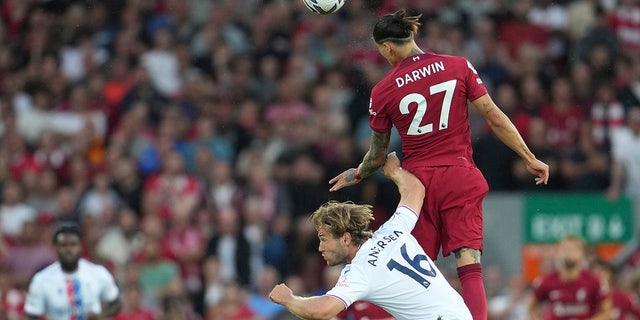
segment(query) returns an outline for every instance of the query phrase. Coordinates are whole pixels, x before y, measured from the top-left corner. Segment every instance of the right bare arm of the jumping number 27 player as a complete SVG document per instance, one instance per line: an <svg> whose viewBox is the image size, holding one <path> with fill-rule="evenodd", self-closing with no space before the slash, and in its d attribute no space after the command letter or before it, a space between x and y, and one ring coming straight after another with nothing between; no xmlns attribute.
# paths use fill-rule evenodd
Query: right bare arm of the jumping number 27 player
<svg viewBox="0 0 640 320"><path fill-rule="evenodd" d="M527 164L527 170L536 176L536 184L547 184L549 181L549 166L536 159L536 156L529 150L527 144L522 139L518 129L513 125L509 117L498 108L489 94L473 101L473 105L480 111L487 120L489 126L496 136L511 150L522 158Z"/></svg>

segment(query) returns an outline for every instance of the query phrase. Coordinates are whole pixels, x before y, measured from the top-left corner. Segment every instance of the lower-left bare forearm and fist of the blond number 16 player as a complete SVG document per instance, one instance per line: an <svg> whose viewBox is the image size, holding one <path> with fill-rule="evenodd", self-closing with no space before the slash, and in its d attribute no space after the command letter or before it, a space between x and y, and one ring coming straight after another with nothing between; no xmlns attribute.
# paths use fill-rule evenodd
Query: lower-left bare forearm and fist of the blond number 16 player
<svg viewBox="0 0 640 320"><path fill-rule="evenodd" d="M285 284L276 285L269 293L269 299L303 319L331 319L344 309L344 304L336 298L296 296Z"/></svg>

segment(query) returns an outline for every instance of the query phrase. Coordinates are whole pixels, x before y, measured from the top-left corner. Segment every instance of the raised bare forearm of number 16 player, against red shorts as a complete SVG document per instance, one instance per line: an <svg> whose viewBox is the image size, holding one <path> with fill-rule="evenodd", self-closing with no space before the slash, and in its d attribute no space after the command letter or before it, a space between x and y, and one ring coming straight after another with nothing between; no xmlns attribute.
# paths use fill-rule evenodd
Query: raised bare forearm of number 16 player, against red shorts
<svg viewBox="0 0 640 320"><path fill-rule="evenodd" d="M415 212L420 212L424 201L424 185L411 172L402 169L400 159L395 152L387 155L387 162L385 162L382 172L398 186L400 192L398 206L405 205Z"/></svg>

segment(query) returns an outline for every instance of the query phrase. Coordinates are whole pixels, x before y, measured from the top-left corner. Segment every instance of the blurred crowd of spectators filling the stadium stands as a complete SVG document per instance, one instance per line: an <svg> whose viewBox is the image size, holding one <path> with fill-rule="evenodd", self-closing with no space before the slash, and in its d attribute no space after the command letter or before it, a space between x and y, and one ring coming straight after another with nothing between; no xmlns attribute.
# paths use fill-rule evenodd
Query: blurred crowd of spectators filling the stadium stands
<svg viewBox="0 0 640 320"><path fill-rule="evenodd" d="M397 200L379 177L328 180L366 152L390 68L371 27L400 7L423 14L421 47L474 64L551 166L545 190L640 197L637 0L348 0L329 16L300 0L0 0L0 319L22 313L69 221L122 288L117 319L276 319L274 284L321 292L308 215L367 202L375 228ZM533 188L470 112L491 189ZM506 280L490 300L526 293Z"/></svg>

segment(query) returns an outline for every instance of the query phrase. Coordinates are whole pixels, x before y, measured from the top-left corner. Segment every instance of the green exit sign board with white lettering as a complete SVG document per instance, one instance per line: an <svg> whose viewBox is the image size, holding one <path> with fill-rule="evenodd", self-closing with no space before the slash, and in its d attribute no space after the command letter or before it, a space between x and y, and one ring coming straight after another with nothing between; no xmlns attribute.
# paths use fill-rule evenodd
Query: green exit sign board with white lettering
<svg viewBox="0 0 640 320"><path fill-rule="evenodd" d="M527 243L556 242L573 234L590 243L620 243L633 234L633 206L628 198L609 201L602 194L533 194L525 197Z"/></svg>

